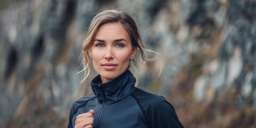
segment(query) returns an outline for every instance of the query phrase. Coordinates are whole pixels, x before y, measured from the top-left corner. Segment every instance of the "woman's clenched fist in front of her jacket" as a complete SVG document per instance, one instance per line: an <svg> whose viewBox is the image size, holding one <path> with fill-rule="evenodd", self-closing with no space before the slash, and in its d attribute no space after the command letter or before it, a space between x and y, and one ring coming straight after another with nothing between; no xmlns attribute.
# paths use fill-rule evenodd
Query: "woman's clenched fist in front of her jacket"
<svg viewBox="0 0 256 128"><path fill-rule="evenodd" d="M76 117L76 128L92 128L93 127L94 111L90 110L88 113L80 114Z"/></svg>

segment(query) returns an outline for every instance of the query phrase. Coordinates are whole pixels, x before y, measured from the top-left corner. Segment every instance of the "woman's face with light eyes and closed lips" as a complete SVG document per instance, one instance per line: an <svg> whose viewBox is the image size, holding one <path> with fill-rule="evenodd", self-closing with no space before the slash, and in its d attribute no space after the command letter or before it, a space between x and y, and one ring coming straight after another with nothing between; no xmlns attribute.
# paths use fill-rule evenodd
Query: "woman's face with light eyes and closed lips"
<svg viewBox="0 0 256 128"><path fill-rule="evenodd" d="M136 51L122 23L114 22L98 29L90 53L94 69L106 83L124 73Z"/></svg>

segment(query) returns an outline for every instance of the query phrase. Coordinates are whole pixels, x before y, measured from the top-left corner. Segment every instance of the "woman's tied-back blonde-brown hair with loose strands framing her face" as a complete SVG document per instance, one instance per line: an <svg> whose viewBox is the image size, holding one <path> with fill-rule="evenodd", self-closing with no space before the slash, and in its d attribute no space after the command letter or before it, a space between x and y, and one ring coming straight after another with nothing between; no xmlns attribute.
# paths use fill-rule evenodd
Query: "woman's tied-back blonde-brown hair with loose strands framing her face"
<svg viewBox="0 0 256 128"><path fill-rule="evenodd" d="M94 42L95 36L97 34L98 29L102 26L105 25L106 23L111 23L111 22L120 22L122 25L125 27L127 32L130 35L131 42L132 42L132 47L137 48L140 50L141 53L141 58L143 61L145 61L145 53L143 51L144 45L141 41L141 37L139 35L139 31L137 29L135 21L130 17L129 14L117 10L105 10L100 13L98 13L91 21L91 24L89 26L89 30L87 31L87 38L83 42L83 67L84 67L84 79L83 81L87 78L87 76L90 74L90 49L91 46ZM137 63L135 60L132 60L134 65L137 67ZM129 65L130 67L130 65ZM82 71L83 71L82 70ZM138 78L137 76L132 73L133 76L136 79L135 86L138 85ZM82 82L83 82L82 81Z"/></svg>

